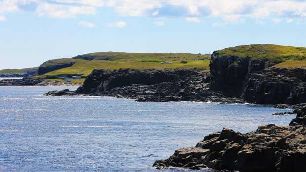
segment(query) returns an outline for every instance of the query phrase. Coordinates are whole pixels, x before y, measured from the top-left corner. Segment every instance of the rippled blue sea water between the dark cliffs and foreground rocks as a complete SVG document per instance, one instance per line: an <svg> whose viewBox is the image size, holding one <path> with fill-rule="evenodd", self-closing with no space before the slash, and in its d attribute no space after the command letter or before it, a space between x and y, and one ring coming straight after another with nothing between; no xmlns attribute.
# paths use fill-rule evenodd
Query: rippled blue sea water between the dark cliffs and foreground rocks
<svg viewBox="0 0 306 172"><path fill-rule="evenodd" d="M251 104L42 96L65 88L76 89L0 87L0 172L160 172L155 160L223 127L245 133L294 118Z"/></svg>

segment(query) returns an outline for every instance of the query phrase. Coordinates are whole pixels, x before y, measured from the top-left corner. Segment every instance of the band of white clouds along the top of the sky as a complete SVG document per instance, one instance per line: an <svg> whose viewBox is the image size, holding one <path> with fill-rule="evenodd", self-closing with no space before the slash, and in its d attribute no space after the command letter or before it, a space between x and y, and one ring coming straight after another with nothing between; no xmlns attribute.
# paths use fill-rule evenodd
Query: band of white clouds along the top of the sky
<svg viewBox="0 0 306 172"><path fill-rule="evenodd" d="M100 7L123 16L214 17L223 23L306 18L306 0L0 0L0 15L33 8L41 16L71 18L94 15Z"/></svg>

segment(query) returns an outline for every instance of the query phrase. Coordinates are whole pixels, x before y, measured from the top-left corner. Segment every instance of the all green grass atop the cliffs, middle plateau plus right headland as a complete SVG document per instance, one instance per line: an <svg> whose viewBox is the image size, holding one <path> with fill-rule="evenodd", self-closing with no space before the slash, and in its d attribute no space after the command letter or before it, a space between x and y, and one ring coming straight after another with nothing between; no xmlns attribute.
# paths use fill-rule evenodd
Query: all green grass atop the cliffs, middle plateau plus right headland
<svg viewBox="0 0 306 172"><path fill-rule="evenodd" d="M265 60L278 68L306 67L306 48L273 44L252 44L230 47L215 51L217 57L236 56ZM166 62L166 63L161 63ZM171 62L171 63L167 63ZM122 53L98 52L79 55L70 59L55 59L43 63L40 67L50 71L37 78L60 80L72 75L85 78L93 69L174 69L196 68L209 71L210 54L190 53ZM68 65L69 64L69 65ZM67 65L68 67L63 67ZM60 68L56 68L62 66ZM82 82L83 80L77 80Z"/></svg>

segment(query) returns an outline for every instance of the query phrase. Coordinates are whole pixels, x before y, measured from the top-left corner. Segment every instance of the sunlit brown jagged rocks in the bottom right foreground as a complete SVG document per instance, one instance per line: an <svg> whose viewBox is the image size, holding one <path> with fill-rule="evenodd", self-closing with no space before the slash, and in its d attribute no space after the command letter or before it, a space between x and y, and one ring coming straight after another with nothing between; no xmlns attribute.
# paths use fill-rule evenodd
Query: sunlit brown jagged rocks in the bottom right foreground
<svg viewBox="0 0 306 172"><path fill-rule="evenodd" d="M195 147L176 150L153 167L211 168L240 172L306 172L306 106L290 126L269 124L241 134L224 128Z"/></svg>

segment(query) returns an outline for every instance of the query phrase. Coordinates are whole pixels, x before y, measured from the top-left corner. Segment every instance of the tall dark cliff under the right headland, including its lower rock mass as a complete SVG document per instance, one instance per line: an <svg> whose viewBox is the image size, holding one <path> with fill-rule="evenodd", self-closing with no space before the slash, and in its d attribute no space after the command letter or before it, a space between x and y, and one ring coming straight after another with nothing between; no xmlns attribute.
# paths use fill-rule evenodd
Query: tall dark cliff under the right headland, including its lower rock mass
<svg viewBox="0 0 306 172"><path fill-rule="evenodd" d="M210 89L248 103L306 103L306 69L269 68L267 59L237 56L211 57Z"/></svg>

